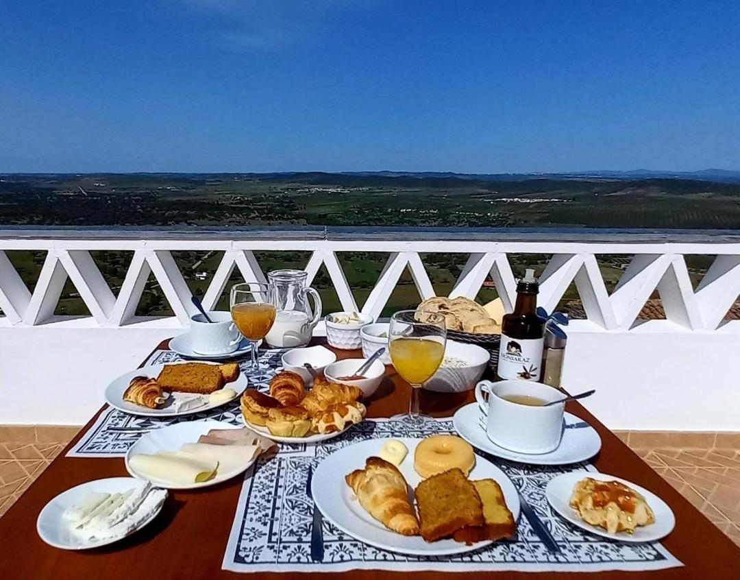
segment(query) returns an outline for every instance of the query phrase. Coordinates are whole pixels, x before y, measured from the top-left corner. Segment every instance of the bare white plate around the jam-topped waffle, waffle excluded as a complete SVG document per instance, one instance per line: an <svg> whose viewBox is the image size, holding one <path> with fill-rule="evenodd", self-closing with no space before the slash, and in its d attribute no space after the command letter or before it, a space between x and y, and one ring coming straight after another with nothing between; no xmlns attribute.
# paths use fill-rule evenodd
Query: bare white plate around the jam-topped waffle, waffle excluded
<svg viewBox="0 0 740 580"><path fill-rule="evenodd" d="M602 527L587 524L580 518L578 513L576 513L576 510L573 510L570 504L573 486L585 477L592 477L598 481L619 481L619 483L628 485L633 490L642 493L642 495L645 496L647 505L650 506L655 514L655 523L647 526L640 526L633 534L628 534L626 532L608 533L608 531ZM666 504L665 501L660 499L653 492L646 490L645 487L633 484L631 481L622 479L621 477L608 476L606 473L596 473L592 471L571 471L571 473L563 473L555 479L550 480L548 487L545 488L545 496L553 509L563 518L570 521L571 524L576 525L587 532L595 533L597 536L604 536L605 538L613 540L628 541L635 544L643 541L656 541L661 538L665 538L665 536L667 536L676 525L676 518L673 516L673 511L668 507L668 504Z"/></svg>

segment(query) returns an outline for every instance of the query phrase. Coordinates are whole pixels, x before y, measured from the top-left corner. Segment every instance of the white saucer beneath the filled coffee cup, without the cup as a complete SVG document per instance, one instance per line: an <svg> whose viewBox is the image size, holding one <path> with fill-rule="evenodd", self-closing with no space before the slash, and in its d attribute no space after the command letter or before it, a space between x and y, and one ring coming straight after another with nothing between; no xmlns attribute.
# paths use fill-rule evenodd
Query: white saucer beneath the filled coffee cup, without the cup
<svg viewBox="0 0 740 580"><path fill-rule="evenodd" d="M580 417L565 413L565 429L562 439L556 450L550 453L531 455L529 453L517 453L499 447L485 434L485 430L479 424L480 409L477 403L471 403L460 407L452 417L452 422L460 437L468 441L473 447L491 453L491 455L517 461L530 465L568 465L591 459L601 449L601 437L591 425L572 428L568 425L582 425L585 421Z"/></svg>

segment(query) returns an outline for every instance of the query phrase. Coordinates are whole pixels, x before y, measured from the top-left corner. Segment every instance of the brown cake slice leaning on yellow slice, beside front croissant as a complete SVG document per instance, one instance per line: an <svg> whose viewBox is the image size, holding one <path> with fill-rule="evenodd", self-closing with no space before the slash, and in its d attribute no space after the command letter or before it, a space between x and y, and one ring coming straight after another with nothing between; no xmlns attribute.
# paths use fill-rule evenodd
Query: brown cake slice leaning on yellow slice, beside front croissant
<svg viewBox="0 0 740 580"><path fill-rule="evenodd" d="M455 467L422 481L415 490L420 532L426 541L451 536L463 526L482 526L480 496Z"/></svg>

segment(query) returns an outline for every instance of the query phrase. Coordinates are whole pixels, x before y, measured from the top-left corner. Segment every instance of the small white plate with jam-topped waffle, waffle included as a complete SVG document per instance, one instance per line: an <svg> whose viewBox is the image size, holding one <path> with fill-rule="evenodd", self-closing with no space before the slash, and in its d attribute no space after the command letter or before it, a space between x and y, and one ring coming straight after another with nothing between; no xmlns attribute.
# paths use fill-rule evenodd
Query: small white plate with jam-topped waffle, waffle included
<svg viewBox="0 0 740 580"><path fill-rule="evenodd" d="M617 541L656 541L676 525L665 501L645 487L606 473L563 473L551 479L545 496L571 524Z"/></svg>

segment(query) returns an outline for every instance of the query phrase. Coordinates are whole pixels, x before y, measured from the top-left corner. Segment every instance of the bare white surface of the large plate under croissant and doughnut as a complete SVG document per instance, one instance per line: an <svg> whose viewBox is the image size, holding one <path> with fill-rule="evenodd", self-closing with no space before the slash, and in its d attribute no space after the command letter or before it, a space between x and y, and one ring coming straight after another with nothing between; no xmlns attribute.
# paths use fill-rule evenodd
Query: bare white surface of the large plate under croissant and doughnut
<svg viewBox="0 0 740 580"><path fill-rule="evenodd" d="M384 439L360 441L349 447L343 447L321 461L312 480L311 491L316 507L323 516L336 527L350 536L364 541L371 546L413 556L449 556L478 550L491 544L491 540L479 541L471 546L453 539L442 539L434 542L425 541L421 536L402 536L391 532L380 521L377 521L360 505L344 476L356 469L365 467L369 456L377 455L383 447ZM406 478L406 483L415 488L421 476L414 470L414 450L421 439L400 439L408 447L408 455L399 470ZM514 521L519 519L519 496L517 489L502 470L482 457L476 456L475 467L471 470L470 479L493 478L498 481Z"/></svg>

